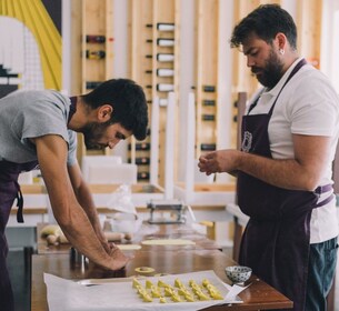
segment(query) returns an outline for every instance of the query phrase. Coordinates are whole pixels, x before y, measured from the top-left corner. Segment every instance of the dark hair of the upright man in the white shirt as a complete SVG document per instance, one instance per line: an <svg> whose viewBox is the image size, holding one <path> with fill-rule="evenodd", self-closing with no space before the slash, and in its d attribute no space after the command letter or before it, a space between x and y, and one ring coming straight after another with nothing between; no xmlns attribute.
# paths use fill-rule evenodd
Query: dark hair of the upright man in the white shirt
<svg viewBox="0 0 339 311"><path fill-rule="evenodd" d="M285 33L291 48L297 49L297 27L292 17L279 4L262 4L235 27L230 46L239 48L251 34L271 43L278 32Z"/></svg>

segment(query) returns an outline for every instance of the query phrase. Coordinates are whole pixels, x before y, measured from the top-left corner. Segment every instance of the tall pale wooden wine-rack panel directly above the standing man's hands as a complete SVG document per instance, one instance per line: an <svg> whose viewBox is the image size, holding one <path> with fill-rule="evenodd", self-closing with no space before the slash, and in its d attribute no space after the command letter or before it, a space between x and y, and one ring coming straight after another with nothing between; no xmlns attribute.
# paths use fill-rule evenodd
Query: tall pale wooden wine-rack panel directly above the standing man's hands
<svg viewBox="0 0 339 311"><path fill-rule="evenodd" d="M196 158L198 159L202 144L217 148L219 0L197 1L196 13ZM207 119L205 116L209 116L209 119L213 118L213 120L205 120Z"/></svg>

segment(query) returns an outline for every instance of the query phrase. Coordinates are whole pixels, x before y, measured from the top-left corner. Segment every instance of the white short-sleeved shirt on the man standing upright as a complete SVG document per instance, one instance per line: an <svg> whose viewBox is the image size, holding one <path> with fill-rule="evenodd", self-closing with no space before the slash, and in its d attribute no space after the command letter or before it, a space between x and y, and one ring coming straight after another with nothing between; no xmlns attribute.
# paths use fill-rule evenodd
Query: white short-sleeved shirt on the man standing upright
<svg viewBox="0 0 339 311"><path fill-rule="evenodd" d="M258 104L250 114L268 113L281 87L299 61L300 59L288 69L273 89L261 93ZM329 162L319 185L333 183L331 177L332 160L339 138L339 97L319 70L306 64L286 84L276 103L268 133L273 159L295 158L292 134L330 137ZM332 192L321 194L319 201L331 194ZM320 243L338 235L335 199L312 210L310 230L311 243Z"/></svg>

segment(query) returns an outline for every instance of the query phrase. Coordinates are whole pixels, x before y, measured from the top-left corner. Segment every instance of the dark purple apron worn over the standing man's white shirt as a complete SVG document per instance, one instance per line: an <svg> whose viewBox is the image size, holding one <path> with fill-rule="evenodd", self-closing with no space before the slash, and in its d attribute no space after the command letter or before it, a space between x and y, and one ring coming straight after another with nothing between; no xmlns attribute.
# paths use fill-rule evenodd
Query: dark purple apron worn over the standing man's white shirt
<svg viewBox="0 0 339 311"><path fill-rule="evenodd" d="M296 66L283 87L305 63L301 60ZM243 117L242 150L272 158L268 124L280 92L268 114ZM311 212L333 199L330 197L317 204L320 194L331 189L329 184L316 191L286 190L238 173L238 204L250 217L242 235L239 263L252 268L256 275L292 300L293 310L305 310Z"/></svg>

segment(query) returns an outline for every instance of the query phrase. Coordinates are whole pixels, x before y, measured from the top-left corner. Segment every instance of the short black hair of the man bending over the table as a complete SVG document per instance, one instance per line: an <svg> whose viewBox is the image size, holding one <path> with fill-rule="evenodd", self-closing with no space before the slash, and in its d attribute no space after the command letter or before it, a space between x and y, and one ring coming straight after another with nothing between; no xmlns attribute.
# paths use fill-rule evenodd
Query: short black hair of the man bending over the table
<svg viewBox="0 0 339 311"><path fill-rule="evenodd" d="M136 139L143 140L148 133L148 106L140 86L129 79L111 79L82 96L91 109L110 104L113 113L109 123L120 123Z"/></svg>

